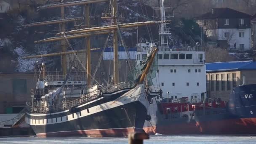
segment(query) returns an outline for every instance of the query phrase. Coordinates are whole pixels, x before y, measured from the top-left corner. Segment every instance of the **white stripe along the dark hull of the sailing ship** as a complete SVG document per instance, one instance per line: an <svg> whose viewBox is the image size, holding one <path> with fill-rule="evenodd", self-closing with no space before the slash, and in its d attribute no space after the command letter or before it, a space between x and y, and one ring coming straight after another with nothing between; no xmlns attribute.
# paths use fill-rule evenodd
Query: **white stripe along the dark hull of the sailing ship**
<svg viewBox="0 0 256 144"><path fill-rule="evenodd" d="M120 96L119 98L115 99L114 101L109 101L106 102L104 104L100 104L88 109L84 109L81 110L80 112L76 112L64 117L57 117L56 118L49 118L48 119L48 123L47 123L47 119L29 119L26 117L26 122L29 125L48 125L48 124L56 124L56 123L64 123L70 120L75 120L75 119L79 119L81 117L86 117L88 115L92 115L98 112L102 112L104 110L107 109L112 109L115 107L119 107L128 103L132 103L135 101L141 101L142 104L145 103L146 99L146 95L144 92L141 93L141 90L143 85L138 85L136 88L133 88L132 90L128 91L127 93L123 94L122 96ZM140 99L139 99L140 98ZM145 105L145 104L144 104ZM146 107L146 106L145 106ZM147 107L146 107L147 108ZM69 111L69 110L66 110ZM65 112L65 111L64 111ZM61 113L61 112L60 112ZM31 116L46 116L46 115L50 115L50 114L29 114L28 115ZM81 115L80 115L81 114ZM51 114L53 115L53 114Z"/></svg>

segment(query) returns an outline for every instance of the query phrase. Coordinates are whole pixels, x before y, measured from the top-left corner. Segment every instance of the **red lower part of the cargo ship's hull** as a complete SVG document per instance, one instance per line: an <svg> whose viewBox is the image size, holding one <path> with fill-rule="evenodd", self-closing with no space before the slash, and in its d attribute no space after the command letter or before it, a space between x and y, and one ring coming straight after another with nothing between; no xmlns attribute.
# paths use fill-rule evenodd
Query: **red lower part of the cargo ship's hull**
<svg viewBox="0 0 256 144"><path fill-rule="evenodd" d="M154 134L256 134L256 118L241 118L195 123L173 123L157 127L143 128L146 133Z"/></svg>

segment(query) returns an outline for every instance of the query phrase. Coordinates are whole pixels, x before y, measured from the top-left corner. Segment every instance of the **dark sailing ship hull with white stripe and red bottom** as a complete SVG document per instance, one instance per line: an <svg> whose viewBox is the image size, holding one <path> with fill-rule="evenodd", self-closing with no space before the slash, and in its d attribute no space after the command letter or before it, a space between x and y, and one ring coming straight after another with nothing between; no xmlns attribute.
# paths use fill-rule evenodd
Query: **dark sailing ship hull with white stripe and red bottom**
<svg viewBox="0 0 256 144"><path fill-rule="evenodd" d="M128 94L136 91L133 89ZM147 108L139 99L145 99L145 95L136 95L136 99L131 99L125 94L113 96L112 99L103 96L77 106L76 112L70 110L48 114L27 112L26 122L40 137L128 136L131 132L144 131L142 128Z"/></svg>

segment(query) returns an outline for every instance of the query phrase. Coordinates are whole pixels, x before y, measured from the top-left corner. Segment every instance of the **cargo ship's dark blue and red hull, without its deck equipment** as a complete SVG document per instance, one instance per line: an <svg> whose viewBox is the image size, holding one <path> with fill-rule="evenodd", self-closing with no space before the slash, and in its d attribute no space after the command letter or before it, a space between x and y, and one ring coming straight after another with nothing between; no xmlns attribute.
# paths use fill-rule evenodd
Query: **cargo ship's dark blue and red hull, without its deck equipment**
<svg viewBox="0 0 256 144"><path fill-rule="evenodd" d="M149 108L152 125L145 123L144 130L147 133L256 134L256 85L234 88L224 108L195 109L169 114L161 114L159 107L155 108L158 110Z"/></svg>

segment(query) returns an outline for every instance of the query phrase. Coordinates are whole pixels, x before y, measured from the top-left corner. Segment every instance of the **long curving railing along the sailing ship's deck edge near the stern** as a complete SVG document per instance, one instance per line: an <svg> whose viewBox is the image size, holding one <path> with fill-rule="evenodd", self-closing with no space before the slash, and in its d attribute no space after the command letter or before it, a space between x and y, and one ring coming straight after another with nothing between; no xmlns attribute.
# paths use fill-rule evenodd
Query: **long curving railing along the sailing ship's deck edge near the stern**
<svg viewBox="0 0 256 144"><path fill-rule="evenodd" d="M99 91L99 90L98 90ZM100 92L100 91L99 91ZM76 107L80 104L85 104L89 101L99 98L99 93L88 94L75 99L74 101L64 102L62 104L49 105L46 104L44 107L32 107L31 104L27 103L27 111L32 113L48 113L48 112L58 112L60 110L70 109L71 107Z"/></svg>

